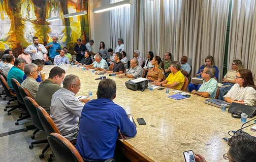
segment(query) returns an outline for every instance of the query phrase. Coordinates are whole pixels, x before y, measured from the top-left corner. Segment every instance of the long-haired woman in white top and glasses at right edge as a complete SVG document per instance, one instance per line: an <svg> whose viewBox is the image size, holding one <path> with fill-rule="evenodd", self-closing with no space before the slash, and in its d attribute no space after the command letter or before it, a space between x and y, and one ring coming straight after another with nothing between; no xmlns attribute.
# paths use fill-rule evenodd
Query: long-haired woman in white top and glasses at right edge
<svg viewBox="0 0 256 162"><path fill-rule="evenodd" d="M249 69L240 69L236 73L236 84L229 90L224 100L237 102L249 106L256 104L256 87L254 86L252 73Z"/></svg>

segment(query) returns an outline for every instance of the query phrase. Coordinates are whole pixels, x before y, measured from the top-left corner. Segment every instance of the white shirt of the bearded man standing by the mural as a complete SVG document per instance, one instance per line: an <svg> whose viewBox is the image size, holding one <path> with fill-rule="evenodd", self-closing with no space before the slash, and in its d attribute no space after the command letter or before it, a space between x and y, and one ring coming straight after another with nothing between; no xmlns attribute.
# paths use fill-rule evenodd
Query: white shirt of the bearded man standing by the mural
<svg viewBox="0 0 256 162"><path fill-rule="evenodd" d="M40 47L42 50L41 51L38 50L38 47ZM47 54L48 51L46 50L44 45L38 44L38 47L36 45L34 45L34 44L29 45L25 49L24 53L30 54L31 60L36 60L36 59L43 60L44 59L44 54ZM32 53L33 50L36 50L36 52Z"/></svg>

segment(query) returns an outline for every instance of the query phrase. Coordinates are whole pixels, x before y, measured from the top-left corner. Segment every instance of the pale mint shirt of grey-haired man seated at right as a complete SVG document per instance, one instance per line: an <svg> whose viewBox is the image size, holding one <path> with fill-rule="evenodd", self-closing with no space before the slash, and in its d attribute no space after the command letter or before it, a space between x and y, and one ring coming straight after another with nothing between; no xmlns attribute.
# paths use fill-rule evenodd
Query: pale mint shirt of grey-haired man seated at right
<svg viewBox="0 0 256 162"><path fill-rule="evenodd" d="M208 82L205 82L205 80L203 80L203 84L199 88L198 92L208 92L210 94L209 97L215 98L217 88L218 82L214 78L211 78L210 80L208 80Z"/></svg>

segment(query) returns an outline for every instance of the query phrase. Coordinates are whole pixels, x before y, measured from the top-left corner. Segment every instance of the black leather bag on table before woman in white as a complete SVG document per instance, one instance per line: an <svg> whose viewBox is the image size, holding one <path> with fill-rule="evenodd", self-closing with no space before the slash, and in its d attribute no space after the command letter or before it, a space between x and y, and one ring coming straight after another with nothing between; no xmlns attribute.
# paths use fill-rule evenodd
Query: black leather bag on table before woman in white
<svg viewBox="0 0 256 162"><path fill-rule="evenodd" d="M246 113L248 117L253 117L256 113L256 107L232 102L228 110L232 117L241 118L241 113Z"/></svg>

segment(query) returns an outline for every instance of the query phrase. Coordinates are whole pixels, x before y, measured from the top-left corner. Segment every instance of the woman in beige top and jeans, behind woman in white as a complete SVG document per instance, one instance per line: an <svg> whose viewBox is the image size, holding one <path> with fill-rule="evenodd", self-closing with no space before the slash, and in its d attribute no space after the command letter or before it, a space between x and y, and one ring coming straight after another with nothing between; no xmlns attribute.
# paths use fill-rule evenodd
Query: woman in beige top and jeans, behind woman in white
<svg viewBox="0 0 256 162"><path fill-rule="evenodd" d="M243 64L240 60L233 60L231 64L231 70L227 72L227 74L222 79L222 84L224 86L230 85L226 88L220 88L219 89L219 100L224 100L223 96L234 86L236 83L235 77L238 70L243 68Z"/></svg>

